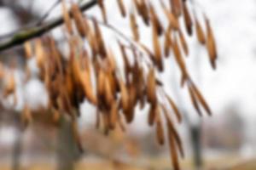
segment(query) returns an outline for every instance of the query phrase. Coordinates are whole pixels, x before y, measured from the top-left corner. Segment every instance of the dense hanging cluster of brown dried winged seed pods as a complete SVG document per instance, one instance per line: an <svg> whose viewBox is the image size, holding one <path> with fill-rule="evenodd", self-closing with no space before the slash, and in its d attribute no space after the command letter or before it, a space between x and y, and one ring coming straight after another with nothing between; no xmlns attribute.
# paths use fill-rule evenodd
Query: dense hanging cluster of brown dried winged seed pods
<svg viewBox="0 0 256 170"><path fill-rule="evenodd" d="M207 48L212 68L216 67L217 52L210 22L206 16L204 23L199 22L189 8L189 0L157 1L160 10L148 0L132 0L132 10L124 0L116 0L120 16L129 18L132 37L126 37L118 26L108 24L105 6L108 1L97 2L102 12L102 22L84 15L76 3L71 3L69 13L67 4L62 1L63 32L68 43L68 54L61 53L61 48L50 34L25 44L27 59L36 59L40 79L49 94L48 107L53 119L58 121L61 114L69 115L73 120L74 138L80 145L76 120L79 105L84 99L95 105L96 127L103 128L106 134L116 127L125 131L125 124L134 120L136 106L143 109L149 105L148 126L154 126L159 144L170 146L172 165L177 170L178 158L183 156L183 146L175 122L182 122L182 116L157 75L165 69L164 59L173 57L182 75L181 84L188 88L195 110L199 115L203 113L201 109L211 115L206 100L189 77L184 58L189 55L186 37L195 34L198 42ZM165 15L167 27L163 26L159 12ZM152 31L152 49L140 41L142 35L138 20L143 20L144 25ZM185 26L183 30L181 22ZM201 24L205 25L206 31ZM119 36L120 56L116 56L104 40L102 27ZM163 43L160 38L164 39ZM124 68L119 69L117 58L123 60ZM4 94L14 91L15 81L11 76ZM176 117L175 120L171 114ZM31 119L28 107L25 107L23 117L25 121Z"/></svg>

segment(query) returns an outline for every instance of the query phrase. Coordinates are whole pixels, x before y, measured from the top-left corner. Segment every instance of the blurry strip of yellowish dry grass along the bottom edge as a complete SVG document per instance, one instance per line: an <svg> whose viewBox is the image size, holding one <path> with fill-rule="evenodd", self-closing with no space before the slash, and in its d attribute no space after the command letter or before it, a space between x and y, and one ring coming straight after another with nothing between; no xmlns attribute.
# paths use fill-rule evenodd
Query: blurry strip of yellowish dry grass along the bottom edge
<svg viewBox="0 0 256 170"><path fill-rule="evenodd" d="M0 166L1 170L10 170L8 166ZM193 169L193 163L191 160L181 161L181 167L183 170ZM21 170L54 170L53 164L37 163L31 164L26 167L22 167ZM147 158L143 163L133 162L118 163L113 161L81 161L76 165L76 170L167 170L172 169L170 161L167 158ZM203 170L255 170L256 160L241 161L240 158L235 156L225 156L221 158L207 160Z"/></svg>

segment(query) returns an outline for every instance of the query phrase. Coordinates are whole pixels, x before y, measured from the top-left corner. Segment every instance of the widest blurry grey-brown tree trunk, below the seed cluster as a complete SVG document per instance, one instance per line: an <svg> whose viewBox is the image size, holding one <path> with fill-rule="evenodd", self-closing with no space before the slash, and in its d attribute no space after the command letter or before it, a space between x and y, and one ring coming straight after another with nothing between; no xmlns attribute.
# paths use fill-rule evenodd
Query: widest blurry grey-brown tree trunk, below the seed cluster
<svg viewBox="0 0 256 170"><path fill-rule="evenodd" d="M62 116L57 136L57 170L73 170L79 148L73 138L72 122Z"/></svg>

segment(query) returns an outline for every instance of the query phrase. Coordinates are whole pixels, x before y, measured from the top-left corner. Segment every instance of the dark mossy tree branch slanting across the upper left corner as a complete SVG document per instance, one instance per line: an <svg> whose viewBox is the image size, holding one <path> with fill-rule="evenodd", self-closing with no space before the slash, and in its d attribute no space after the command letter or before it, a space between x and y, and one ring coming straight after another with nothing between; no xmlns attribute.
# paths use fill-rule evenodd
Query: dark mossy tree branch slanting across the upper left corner
<svg viewBox="0 0 256 170"><path fill-rule="evenodd" d="M81 11L85 11L94 7L96 4L97 4L97 0L90 0L88 3L84 3L83 5L81 5L80 9ZM24 31L18 31L8 40L0 43L0 52L9 48L13 48L17 45L20 45L23 42L26 42L27 40L30 40L34 37L40 37L44 35L44 33L54 29L55 27L61 26L63 22L64 20L61 16L58 19L49 21L44 26L36 26L36 27L28 28L27 30L24 30Z"/></svg>

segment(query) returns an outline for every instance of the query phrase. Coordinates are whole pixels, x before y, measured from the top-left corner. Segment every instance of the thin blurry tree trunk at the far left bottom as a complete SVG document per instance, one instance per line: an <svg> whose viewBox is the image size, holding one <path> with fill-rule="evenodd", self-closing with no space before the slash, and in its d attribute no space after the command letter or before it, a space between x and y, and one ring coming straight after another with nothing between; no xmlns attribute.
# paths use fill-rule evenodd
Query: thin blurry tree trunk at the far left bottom
<svg viewBox="0 0 256 170"><path fill-rule="evenodd" d="M20 129L19 129L17 132L14 147L13 147L12 170L20 169L21 148L22 148L22 134L20 133Z"/></svg>

